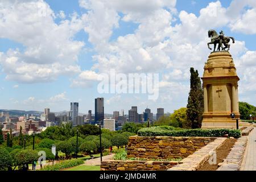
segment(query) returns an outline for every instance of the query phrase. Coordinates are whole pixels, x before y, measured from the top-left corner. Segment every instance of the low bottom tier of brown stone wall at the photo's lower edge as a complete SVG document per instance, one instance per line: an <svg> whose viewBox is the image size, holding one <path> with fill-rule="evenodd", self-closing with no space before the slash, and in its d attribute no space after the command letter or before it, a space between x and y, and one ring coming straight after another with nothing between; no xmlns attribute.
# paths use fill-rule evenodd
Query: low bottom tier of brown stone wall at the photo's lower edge
<svg viewBox="0 0 256 182"><path fill-rule="evenodd" d="M146 160L106 160L101 163L101 171L166 171L180 164L177 161Z"/></svg>

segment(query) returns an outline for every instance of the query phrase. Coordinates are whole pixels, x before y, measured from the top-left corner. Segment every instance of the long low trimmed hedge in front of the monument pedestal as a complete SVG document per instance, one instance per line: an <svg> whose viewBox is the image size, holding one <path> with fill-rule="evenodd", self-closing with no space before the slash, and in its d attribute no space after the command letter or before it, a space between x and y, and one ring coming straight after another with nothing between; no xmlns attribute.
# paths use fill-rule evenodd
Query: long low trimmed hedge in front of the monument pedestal
<svg viewBox="0 0 256 182"><path fill-rule="evenodd" d="M234 129L188 129L188 130L166 130L159 127L143 128L138 131L141 137L223 137L228 134L229 137L240 138L241 130Z"/></svg>

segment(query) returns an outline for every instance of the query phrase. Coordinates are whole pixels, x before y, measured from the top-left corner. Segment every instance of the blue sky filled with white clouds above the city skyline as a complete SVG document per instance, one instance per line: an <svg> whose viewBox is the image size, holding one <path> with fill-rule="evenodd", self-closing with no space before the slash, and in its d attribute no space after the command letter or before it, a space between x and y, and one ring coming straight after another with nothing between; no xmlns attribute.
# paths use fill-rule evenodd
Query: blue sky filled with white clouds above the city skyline
<svg viewBox="0 0 256 182"><path fill-rule="evenodd" d="M233 36L240 101L256 105L254 0L2 0L0 2L0 109L105 112L138 106L165 111L187 105L189 68L203 74L207 32ZM97 76L159 73L159 98L100 94Z"/></svg>

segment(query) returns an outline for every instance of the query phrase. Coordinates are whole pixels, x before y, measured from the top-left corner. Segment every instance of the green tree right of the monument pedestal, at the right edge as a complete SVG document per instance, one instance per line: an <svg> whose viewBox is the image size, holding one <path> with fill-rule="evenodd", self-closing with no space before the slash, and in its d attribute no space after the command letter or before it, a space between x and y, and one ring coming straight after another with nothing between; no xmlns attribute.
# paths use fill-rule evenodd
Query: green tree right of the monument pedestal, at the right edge
<svg viewBox="0 0 256 182"><path fill-rule="evenodd" d="M239 102L240 119L250 119L250 114L256 116L256 107L247 102Z"/></svg>

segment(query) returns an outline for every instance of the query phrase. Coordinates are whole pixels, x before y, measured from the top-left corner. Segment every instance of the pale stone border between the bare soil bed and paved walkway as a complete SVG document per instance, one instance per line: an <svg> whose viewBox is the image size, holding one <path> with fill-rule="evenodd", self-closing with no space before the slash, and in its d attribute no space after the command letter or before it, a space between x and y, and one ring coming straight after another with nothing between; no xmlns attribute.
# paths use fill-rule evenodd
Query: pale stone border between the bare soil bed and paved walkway
<svg viewBox="0 0 256 182"><path fill-rule="evenodd" d="M229 155L226 157L226 159L224 159L224 162L218 164L220 167L217 169L217 171L238 171L241 167L246 144L247 136L238 138L237 142L229 152Z"/></svg>

